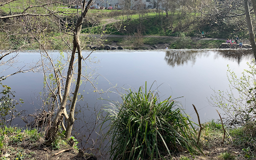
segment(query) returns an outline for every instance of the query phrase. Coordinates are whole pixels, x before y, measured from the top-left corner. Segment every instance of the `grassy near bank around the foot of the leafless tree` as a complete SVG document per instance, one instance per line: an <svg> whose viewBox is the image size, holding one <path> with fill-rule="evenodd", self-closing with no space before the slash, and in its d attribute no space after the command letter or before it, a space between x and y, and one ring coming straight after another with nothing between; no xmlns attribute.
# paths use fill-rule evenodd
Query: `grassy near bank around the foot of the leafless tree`
<svg viewBox="0 0 256 160"><path fill-rule="evenodd" d="M59 136L50 146L46 145L44 132L36 129L20 129L19 127L3 127L0 129L1 160L14 159L87 159L93 155L78 152L75 145ZM62 151L62 152L61 152ZM79 154L78 154L79 153ZM82 156L82 154L83 156Z"/></svg>

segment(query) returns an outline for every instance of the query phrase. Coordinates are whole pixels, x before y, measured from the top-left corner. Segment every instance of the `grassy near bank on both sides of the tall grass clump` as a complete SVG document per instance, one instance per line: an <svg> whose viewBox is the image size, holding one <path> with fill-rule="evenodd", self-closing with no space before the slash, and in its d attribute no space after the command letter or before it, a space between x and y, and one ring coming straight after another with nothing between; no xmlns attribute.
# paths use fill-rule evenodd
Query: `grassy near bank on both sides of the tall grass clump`
<svg viewBox="0 0 256 160"><path fill-rule="evenodd" d="M210 121L203 124L200 142L203 154L190 155L188 151L172 152L166 159L254 159L256 157L255 123L237 129L227 129L223 140L222 125ZM19 127L4 127L0 129L1 159L76 159L78 150L71 150L55 155L63 149L70 149L67 140L58 138L51 146L44 145L44 133L36 129L22 130ZM167 153L166 153L167 155ZM85 157L90 157L86 155ZM86 158L85 158L86 159Z"/></svg>

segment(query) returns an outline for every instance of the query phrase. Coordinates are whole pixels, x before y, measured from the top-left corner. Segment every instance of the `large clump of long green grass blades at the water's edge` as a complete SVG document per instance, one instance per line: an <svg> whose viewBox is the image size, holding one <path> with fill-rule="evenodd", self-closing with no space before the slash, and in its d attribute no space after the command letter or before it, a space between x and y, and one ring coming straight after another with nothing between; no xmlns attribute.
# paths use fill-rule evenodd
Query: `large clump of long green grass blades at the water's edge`
<svg viewBox="0 0 256 160"><path fill-rule="evenodd" d="M201 151L196 131L177 101L159 101L157 92L127 91L122 103L106 106L113 159L153 159L175 151Z"/></svg>

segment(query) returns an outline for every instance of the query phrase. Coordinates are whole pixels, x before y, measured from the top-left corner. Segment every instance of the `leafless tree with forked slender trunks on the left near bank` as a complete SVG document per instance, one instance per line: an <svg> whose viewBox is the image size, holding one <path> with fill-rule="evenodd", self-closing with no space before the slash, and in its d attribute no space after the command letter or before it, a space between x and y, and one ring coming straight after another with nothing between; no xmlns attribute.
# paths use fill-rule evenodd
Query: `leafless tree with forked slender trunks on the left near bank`
<svg viewBox="0 0 256 160"><path fill-rule="evenodd" d="M11 0L11 1L3 2L0 4L0 7L6 7L6 5L9 5L9 6L13 5L13 7L15 7L17 10L19 10L18 12L15 12L13 14L13 13L11 13L12 7L9 7L9 9L10 9L9 15L2 14L0 16L0 20L15 19L17 22L20 22L20 23L23 21L26 21L25 29L27 29L29 31L30 37L33 38L34 41L38 42L38 44L40 45L39 48L41 49L40 52L44 52L47 60L50 61L50 64L54 68L53 73L54 73L55 80L57 82L57 92L50 89L50 87L49 87L49 89L52 92L53 97L55 97L55 98L58 97L59 101L57 100L57 103L60 102L60 105L59 105L57 114L55 115L55 118L50 126L50 129L48 130L48 132L46 134L46 140L49 143L51 143L55 139L55 135L58 131L58 126L60 124L62 124L63 129L66 130L66 138L69 139L70 135L71 135L71 131L73 129L74 121L75 121L74 112L75 112L75 106L76 106L76 101L77 101L77 95L78 95L78 91L79 91L79 83L81 82L81 76L82 76L82 60L85 60L90 55L89 54L86 58L83 58L83 56L82 56L83 46L81 45L81 40L79 38L79 35L81 33L82 24L86 17L89 6L92 3L92 0L90 0L88 2L74 0L72 2L68 1L69 4L65 4L65 5L73 5L73 4L78 4L78 3L82 4L81 9L77 9L77 12L75 13L77 20L76 20L75 25L73 25L73 26L71 24L68 24L68 22L65 19L62 19L62 17L61 17L63 14L69 14L69 13L66 13L65 11L58 11L58 9L54 6L57 4L62 5L62 4L64 4L63 2L33 1L33 3L31 3L31 4L23 4L22 6L17 6L17 3L15 4L15 1L17 1L17 0ZM63 81L61 79L61 77L63 77L63 75L61 75L61 73L60 73L60 67L54 66L53 60L50 58L49 55L47 55L47 51L45 49L45 44L47 42L44 39L44 34L45 34L45 30L50 29L50 26L47 26L50 23L47 23L47 25L42 26L44 23L43 22L44 20L42 20L42 19L36 20L37 17L45 18L48 21L51 21L54 24L54 26L57 26L57 29L59 29L59 31L61 33L66 34L66 35L73 35L73 46L69 46L67 43L67 45L70 47L70 50L71 50L71 57L68 61L69 67L67 70L67 76L65 77L66 78L65 85L63 85ZM41 23L41 25L38 25L37 23ZM27 26L29 26L29 27L27 27ZM26 42L24 42L24 44L26 44ZM12 52L13 51L3 53L0 57L1 58L0 60L5 58L7 55L11 54ZM77 55L76 55L76 53L77 53ZM15 55L14 55L14 57L15 57ZM76 57L78 59L76 59ZM43 58L42 58L42 60L43 60ZM76 75L76 87L75 87L75 91L74 91L74 94L73 94L73 97L71 100L72 103L71 103L70 111L68 114L66 107L67 107L67 101L70 98L70 96L69 96L70 87L71 87L71 82L73 81L74 74L75 74L74 66L75 66L76 61L78 63L78 66L77 66L78 73ZM42 61L41 65L44 66L43 61ZM43 69L44 69L44 67L43 67ZM61 91L62 89L65 91L62 92ZM65 125L63 125L63 121L62 121L63 116L65 116L65 118L67 120L67 128L65 127Z"/></svg>

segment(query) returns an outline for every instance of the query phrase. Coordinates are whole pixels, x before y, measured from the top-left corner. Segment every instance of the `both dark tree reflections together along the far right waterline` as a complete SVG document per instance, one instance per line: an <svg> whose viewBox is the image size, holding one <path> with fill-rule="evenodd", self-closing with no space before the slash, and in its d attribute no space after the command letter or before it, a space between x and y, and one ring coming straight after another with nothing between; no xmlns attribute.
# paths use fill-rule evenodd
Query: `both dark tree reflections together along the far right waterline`
<svg viewBox="0 0 256 160"><path fill-rule="evenodd" d="M219 57L228 59L230 61L237 61L238 65L242 59L253 59L252 50L216 50L216 51L166 51L164 60L169 66L182 66L191 62L195 64L197 58L209 57L211 53L214 54L214 59Z"/></svg>

